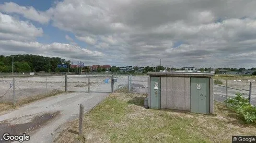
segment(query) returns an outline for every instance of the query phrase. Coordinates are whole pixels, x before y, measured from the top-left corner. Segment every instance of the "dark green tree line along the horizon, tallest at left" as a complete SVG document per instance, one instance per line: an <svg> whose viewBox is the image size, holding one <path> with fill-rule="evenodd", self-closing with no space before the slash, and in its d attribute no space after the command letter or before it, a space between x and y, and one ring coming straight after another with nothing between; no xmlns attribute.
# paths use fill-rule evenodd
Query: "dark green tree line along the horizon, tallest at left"
<svg viewBox="0 0 256 143"><path fill-rule="evenodd" d="M24 54L24 55L10 55L10 56L4 56L0 55L0 72L12 72L12 56L13 56L13 72L77 72L77 68L70 68L70 65L73 64L71 61L66 61L65 59L61 59L58 57L44 57L44 56L38 56L38 55L32 55L32 54ZM66 64L68 65L68 68L58 68L58 64ZM134 71L139 71L140 69L135 66ZM219 70L224 69L227 71L233 71L233 72L243 72L246 71L245 68L218 68L216 69L216 72ZM85 66L82 68L84 72L90 72L90 67ZM179 71L179 70L185 70L184 68L177 69L177 68L164 68L163 66L156 66L156 67L150 67L146 66L142 71L140 72L159 72L161 70L167 70L167 71ZM251 68L247 70L253 70L256 71L256 68ZM98 66L97 72L105 72L105 68L101 68ZM110 72L117 72L120 71L119 67L111 67L109 69ZM132 71L132 72L134 72ZM210 68L200 68L199 71L208 71L211 72L213 69Z"/></svg>

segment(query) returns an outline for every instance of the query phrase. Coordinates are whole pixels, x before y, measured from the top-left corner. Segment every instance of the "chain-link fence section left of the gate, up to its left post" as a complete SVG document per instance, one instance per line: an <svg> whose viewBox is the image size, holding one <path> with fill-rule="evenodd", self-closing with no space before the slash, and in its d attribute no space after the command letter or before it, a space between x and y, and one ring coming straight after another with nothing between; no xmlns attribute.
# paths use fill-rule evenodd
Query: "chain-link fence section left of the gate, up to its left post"
<svg viewBox="0 0 256 143"><path fill-rule="evenodd" d="M0 78L0 102L20 102L65 91L65 76Z"/></svg>

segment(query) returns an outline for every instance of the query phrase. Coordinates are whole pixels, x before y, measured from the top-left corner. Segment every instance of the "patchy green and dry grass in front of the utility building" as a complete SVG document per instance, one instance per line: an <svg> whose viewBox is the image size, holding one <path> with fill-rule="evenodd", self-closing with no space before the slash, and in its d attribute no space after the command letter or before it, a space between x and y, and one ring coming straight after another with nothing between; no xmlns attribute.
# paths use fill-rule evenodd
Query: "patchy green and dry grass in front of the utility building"
<svg viewBox="0 0 256 143"><path fill-rule="evenodd" d="M56 142L80 139L86 143L230 143L232 135L256 135L256 126L244 125L231 117L233 112L222 103L215 103L216 114L202 115L144 109L144 97L126 92L111 94L85 114L82 140L76 133L64 131ZM78 131L78 120L68 130Z"/></svg>

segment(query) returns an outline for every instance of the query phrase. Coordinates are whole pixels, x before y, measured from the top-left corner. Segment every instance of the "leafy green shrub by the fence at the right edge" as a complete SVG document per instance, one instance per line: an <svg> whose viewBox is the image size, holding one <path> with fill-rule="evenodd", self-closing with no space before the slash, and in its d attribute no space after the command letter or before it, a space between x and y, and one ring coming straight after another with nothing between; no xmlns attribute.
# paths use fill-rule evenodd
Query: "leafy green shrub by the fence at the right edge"
<svg viewBox="0 0 256 143"><path fill-rule="evenodd" d="M237 92L236 97L225 102L245 123L256 123L256 107L251 105L243 94Z"/></svg>

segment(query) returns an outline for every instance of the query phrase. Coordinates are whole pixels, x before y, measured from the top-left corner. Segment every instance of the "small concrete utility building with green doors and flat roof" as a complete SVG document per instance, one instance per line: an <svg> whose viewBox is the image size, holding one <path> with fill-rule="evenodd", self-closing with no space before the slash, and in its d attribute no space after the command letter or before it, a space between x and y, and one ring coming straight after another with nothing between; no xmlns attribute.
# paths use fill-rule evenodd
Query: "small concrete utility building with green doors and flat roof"
<svg viewBox="0 0 256 143"><path fill-rule="evenodd" d="M213 73L148 72L148 107L213 113Z"/></svg>

